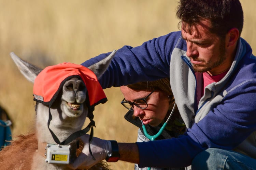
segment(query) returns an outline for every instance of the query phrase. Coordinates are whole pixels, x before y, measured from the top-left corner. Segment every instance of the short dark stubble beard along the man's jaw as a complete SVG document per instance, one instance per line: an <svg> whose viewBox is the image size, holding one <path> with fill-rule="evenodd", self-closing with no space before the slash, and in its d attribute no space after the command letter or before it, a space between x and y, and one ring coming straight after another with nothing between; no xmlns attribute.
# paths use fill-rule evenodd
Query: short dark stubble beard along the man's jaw
<svg viewBox="0 0 256 170"><path fill-rule="evenodd" d="M210 71L211 69L221 65L225 60L226 60L227 56L226 56L226 49L225 49L225 39L223 38L221 40L221 43L219 45L219 56L218 56L218 60L215 63L212 63L209 65L208 63L205 63L206 66L202 67L202 66L198 66L196 64L192 64L194 71L196 72L207 72ZM193 59L193 57L192 57ZM201 60L203 61L203 60Z"/></svg>

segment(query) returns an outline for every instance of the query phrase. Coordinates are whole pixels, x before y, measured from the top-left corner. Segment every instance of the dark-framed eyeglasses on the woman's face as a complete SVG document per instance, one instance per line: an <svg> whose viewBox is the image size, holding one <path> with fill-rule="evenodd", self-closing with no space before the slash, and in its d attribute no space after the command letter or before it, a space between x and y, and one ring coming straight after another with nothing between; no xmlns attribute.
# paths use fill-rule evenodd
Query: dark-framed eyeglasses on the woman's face
<svg viewBox="0 0 256 170"><path fill-rule="evenodd" d="M123 99L121 104L123 106L125 106L125 108L127 108L129 111L134 111L134 105L141 108L141 109L145 109L145 108L147 108L147 101L146 100L147 100L148 96L150 96L154 91L155 90L153 90L145 98L136 99L133 102L127 102L127 101L125 101L125 99Z"/></svg>

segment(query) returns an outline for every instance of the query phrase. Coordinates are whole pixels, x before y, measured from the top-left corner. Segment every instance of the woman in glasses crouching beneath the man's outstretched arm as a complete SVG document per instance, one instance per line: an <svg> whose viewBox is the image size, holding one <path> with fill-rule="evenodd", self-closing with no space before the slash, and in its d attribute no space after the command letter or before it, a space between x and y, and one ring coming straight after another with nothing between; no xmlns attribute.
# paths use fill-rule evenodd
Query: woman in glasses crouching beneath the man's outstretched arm
<svg viewBox="0 0 256 170"><path fill-rule="evenodd" d="M175 107L170 79L138 82L121 86L120 90L125 97L121 104L129 109L125 119L139 127L137 141L149 141L150 139L145 136L143 131L142 123L145 125L148 135L155 135L168 119L173 107ZM155 140L177 137L184 132L185 124L180 117L178 109L175 107L174 113L167 122L165 129ZM144 168L138 168L136 164L134 169L142 170ZM160 170L168 168L151 169ZM173 170L173 168L170 169Z"/></svg>

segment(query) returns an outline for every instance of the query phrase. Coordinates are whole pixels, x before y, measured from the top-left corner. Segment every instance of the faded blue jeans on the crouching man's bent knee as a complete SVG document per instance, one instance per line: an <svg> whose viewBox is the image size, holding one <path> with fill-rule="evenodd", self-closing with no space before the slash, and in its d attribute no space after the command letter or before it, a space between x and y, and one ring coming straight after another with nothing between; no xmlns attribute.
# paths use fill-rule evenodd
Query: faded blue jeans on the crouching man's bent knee
<svg viewBox="0 0 256 170"><path fill-rule="evenodd" d="M230 150L210 148L193 159L191 168L192 170L255 170L256 159Z"/></svg>

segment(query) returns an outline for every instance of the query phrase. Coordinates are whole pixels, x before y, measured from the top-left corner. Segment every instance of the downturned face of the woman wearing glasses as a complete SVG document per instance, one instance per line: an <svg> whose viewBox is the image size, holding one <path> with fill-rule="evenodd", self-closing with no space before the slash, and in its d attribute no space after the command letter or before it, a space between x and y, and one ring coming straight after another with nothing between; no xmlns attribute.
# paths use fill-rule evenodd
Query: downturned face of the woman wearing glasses
<svg viewBox="0 0 256 170"><path fill-rule="evenodd" d="M133 102L136 99L145 98L152 91L133 90L127 86L120 87L124 95L125 101ZM159 125L165 118L169 109L168 95L161 91L155 90L147 99L147 108L141 109L134 105L134 116L139 117L143 124L151 126Z"/></svg>

